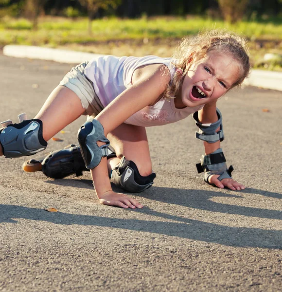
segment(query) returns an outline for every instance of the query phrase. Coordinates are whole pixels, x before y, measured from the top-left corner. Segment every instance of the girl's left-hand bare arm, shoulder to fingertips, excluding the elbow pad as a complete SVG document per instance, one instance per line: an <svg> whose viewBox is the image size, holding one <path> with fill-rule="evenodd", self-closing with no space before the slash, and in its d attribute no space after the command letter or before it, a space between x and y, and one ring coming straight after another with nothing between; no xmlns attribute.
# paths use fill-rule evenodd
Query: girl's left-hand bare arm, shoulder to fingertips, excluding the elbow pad
<svg viewBox="0 0 282 292"><path fill-rule="evenodd" d="M135 112L153 103L165 90L170 81L168 69L162 65L146 66L142 72L133 74L133 84L115 98L96 119L102 124L105 136L122 124ZM101 146L98 142L98 146ZM142 207L140 203L123 194L114 193L108 178L106 157L91 169L91 176L97 196L101 203L116 205L123 208Z"/></svg>

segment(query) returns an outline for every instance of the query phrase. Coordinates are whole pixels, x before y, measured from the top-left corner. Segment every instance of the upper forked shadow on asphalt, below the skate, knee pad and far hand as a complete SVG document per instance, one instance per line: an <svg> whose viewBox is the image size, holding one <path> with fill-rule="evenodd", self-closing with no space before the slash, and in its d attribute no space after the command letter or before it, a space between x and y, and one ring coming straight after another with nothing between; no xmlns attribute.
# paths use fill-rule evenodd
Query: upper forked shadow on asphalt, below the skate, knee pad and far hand
<svg viewBox="0 0 282 292"><path fill-rule="evenodd" d="M54 183L59 185L68 185L73 187L90 187L93 188L92 181L90 180L71 180L71 179L63 179L63 180L54 180L47 181L48 183ZM113 185L114 191L122 191L117 189ZM211 189L217 189L211 186ZM217 189L219 190L219 189ZM227 193L228 192L228 193ZM160 201L169 204L181 205L184 207L200 209L211 212L220 212L226 214L236 214L243 215L247 217L258 217L258 218L266 218L266 219L281 219L282 220L282 211L278 210L269 210L269 209L260 209L253 207L245 207L238 206L237 204L229 205L212 201L214 197L225 197L225 198L237 198L244 204L244 197L240 196L243 194L259 194L266 197L272 198L282 198L282 194L272 193L269 191L246 188L243 191L207 191L207 190L193 190L193 189L177 189L177 188L167 188L167 187L152 187L144 192L138 193L136 195L147 198L153 201Z"/></svg>

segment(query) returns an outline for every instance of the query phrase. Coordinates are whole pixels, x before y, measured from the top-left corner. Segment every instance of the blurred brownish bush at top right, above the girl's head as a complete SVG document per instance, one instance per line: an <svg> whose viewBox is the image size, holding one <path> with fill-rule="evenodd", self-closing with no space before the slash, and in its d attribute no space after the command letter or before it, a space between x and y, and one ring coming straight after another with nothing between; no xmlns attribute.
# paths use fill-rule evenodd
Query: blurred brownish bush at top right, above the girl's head
<svg viewBox="0 0 282 292"><path fill-rule="evenodd" d="M223 18L234 23L243 18L248 0L217 0Z"/></svg>

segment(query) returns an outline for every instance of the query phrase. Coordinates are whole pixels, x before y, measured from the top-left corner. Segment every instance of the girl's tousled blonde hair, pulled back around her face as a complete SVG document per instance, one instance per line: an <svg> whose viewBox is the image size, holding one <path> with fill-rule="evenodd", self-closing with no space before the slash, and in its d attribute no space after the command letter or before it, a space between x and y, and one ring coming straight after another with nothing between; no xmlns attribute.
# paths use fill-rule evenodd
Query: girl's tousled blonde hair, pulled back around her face
<svg viewBox="0 0 282 292"><path fill-rule="evenodd" d="M246 40L230 32L212 30L194 37L185 37L181 40L173 55L173 65L176 67L176 73L170 85L164 91L163 96L165 98L175 98L186 73L193 63L204 58L211 51L229 54L241 65L239 78L232 84L231 88L242 84L250 70Z"/></svg>

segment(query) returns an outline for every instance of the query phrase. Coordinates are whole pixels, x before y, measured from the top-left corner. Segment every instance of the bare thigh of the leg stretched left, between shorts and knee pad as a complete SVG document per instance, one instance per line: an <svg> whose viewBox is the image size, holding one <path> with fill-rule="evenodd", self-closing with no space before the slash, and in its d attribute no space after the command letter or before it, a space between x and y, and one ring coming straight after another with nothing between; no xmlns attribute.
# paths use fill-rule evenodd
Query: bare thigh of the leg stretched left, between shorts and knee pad
<svg viewBox="0 0 282 292"><path fill-rule="evenodd" d="M50 140L56 133L84 113L79 97L64 86L57 86L35 116L43 123L43 138ZM0 146L0 155L2 155Z"/></svg>

